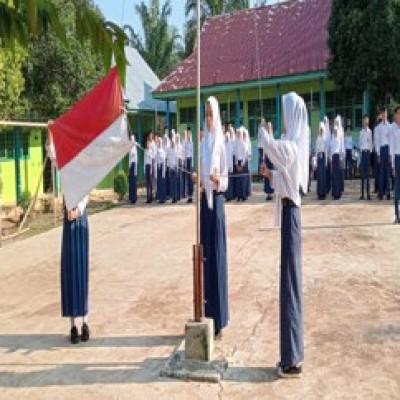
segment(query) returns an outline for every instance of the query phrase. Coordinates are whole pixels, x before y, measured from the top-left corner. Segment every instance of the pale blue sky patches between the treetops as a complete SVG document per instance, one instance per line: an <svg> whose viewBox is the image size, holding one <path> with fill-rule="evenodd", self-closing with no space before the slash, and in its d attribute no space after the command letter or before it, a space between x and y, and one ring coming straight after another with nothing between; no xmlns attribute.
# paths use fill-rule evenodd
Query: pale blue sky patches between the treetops
<svg viewBox="0 0 400 400"><path fill-rule="evenodd" d="M145 0L149 3L150 0ZM271 0L269 3L275 3L277 0ZM139 18L135 12L135 4L140 0L94 0L108 20L121 24L132 25L135 31L141 33ZM185 3L186 0L171 0L172 17L171 24L175 25L182 33L185 23ZM252 0L251 3L254 3Z"/></svg>

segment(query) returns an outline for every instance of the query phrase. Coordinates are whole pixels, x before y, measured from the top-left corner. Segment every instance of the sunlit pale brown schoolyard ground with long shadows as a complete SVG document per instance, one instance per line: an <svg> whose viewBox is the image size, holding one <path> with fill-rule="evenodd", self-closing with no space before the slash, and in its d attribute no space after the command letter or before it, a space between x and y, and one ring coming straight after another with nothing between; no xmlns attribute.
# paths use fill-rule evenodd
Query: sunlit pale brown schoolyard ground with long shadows
<svg viewBox="0 0 400 400"><path fill-rule="evenodd" d="M349 186L349 185L348 185ZM221 384L160 378L192 316L194 206L90 217L92 339L60 317L61 229L0 250L0 399L400 399L400 226L393 204L309 196L302 208L305 373L276 377L279 233L257 191L226 206L230 324Z"/></svg>

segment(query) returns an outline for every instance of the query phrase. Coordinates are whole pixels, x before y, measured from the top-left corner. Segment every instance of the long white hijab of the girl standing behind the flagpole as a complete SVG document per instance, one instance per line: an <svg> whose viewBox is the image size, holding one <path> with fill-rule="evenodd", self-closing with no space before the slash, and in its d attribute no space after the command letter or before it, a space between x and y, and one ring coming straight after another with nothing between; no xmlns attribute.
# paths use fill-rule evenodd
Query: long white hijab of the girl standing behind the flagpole
<svg viewBox="0 0 400 400"><path fill-rule="evenodd" d="M207 99L210 104L213 115L213 129L208 130L206 121L204 121L204 139L201 142L201 166L203 185L207 197L207 204L210 210L213 209L213 190L214 184L210 180L210 175L220 175L221 169L221 147L224 146L224 133L222 130L221 116L219 113L218 101L211 96Z"/></svg>

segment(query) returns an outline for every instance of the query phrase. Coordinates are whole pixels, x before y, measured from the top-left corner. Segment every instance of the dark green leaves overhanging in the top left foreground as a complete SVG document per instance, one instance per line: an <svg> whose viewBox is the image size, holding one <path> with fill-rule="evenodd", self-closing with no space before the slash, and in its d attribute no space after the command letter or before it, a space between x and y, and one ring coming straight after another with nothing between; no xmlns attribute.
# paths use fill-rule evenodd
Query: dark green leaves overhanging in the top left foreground
<svg viewBox="0 0 400 400"><path fill-rule="evenodd" d="M85 0L73 0L77 38L88 41L103 56L106 69L114 58L121 76L125 75L126 35L116 24L106 21L97 9ZM53 31L67 45L66 29L52 0L0 0L0 43L14 51L16 44L27 48L32 37Z"/></svg>

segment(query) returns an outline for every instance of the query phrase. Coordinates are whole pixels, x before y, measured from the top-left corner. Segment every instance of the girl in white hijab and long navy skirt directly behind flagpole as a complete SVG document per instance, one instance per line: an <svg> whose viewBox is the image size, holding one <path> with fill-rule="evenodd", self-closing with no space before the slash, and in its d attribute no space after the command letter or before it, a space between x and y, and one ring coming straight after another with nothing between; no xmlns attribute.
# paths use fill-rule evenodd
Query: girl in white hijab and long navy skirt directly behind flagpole
<svg viewBox="0 0 400 400"><path fill-rule="evenodd" d="M215 337L229 320L225 197L228 165L218 101L206 102L204 139L200 151L201 243L204 246L205 315L214 320ZM192 175L194 182L197 175Z"/></svg>

